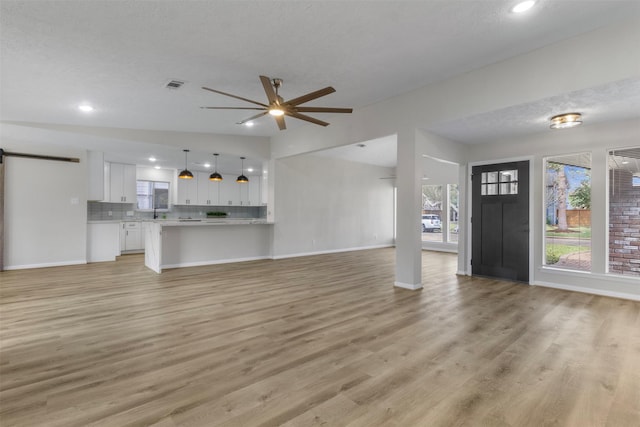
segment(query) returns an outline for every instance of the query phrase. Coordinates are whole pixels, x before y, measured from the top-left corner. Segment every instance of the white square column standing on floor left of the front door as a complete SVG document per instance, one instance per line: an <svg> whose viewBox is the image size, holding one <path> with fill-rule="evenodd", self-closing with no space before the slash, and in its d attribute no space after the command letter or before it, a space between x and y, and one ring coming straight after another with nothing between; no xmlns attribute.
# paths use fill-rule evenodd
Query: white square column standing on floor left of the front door
<svg viewBox="0 0 640 427"><path fill-rule="evenodd" d="M415 133L398 133L395 286L422 288L422 157Z"/></svg>

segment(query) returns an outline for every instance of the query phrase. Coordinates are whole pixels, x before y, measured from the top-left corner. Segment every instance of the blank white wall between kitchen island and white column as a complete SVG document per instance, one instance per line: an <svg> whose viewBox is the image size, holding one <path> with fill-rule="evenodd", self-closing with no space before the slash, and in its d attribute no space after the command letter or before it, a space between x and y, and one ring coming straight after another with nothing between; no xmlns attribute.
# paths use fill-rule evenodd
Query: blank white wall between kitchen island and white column
<svg viewBox="0 0 640 427"><path fill-rule="evenodd" d="M274 256L393 244L393 169L305 155L275 162Z"/></svg>

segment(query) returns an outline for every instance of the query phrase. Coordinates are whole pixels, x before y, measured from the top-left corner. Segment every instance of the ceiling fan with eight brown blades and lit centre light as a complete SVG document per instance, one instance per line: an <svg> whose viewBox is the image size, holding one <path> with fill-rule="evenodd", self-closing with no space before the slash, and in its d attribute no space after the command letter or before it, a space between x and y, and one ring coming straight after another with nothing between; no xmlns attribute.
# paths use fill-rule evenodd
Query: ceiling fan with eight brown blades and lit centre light
<svg viewBox="0 0 640 427"><path fill-rule="evenodd" d="M266 114L270 114L276 119L276 123L278 123L278 127L280 130L286 129L286 125L284 123L284 116L293 117L299 120L305 120L307 122L315 123L320 126L328 126L329 123L323 122L322 120L318 120L314 117L308 116L306 114L301 113L351 113L353 109L351 108L331 108L331 107L301 107L301 104L307 103L309 101L313 101L314 99L320 98L325 95L329 95L330 93L335 92L336 90L331 86L327 86L324 89L319 89L314 92L310 92L306 95L299 96L294 99L290 99L285 101L282 99L280 95L278 95L278 89L282 86L282 79L270 79L266 76L260 76L260 81L262 82L262 86L264 87L264 91L267 94L268 104L264 104L262 102L253 101L251 99L242 98L241 96L231 95L230 93L222 92L219 90L211 89L208 87L202 87L204 90L208 90L211 92L219 93L221 95L230 96L231 98L240 99L242 101L250 102L252 104L259 105L259 107L200 107L207 110L258 110L262 111L260 114L256 114L255 116L249 117L248 119L244 119L238 124L244 124L251 120L255 120L259 117L262 117Z"/></svg>

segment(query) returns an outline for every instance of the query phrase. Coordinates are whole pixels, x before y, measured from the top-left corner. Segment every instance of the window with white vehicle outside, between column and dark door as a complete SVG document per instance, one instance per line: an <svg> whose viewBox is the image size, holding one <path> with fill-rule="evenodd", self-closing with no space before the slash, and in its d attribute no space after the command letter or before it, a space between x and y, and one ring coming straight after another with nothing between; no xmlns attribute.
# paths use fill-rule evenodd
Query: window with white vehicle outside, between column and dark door
<svg viewBox="0 0 640 427"><path fill-rule="evenodd" d="M458 242L458 184L422 186L422 241Z"/></svg>

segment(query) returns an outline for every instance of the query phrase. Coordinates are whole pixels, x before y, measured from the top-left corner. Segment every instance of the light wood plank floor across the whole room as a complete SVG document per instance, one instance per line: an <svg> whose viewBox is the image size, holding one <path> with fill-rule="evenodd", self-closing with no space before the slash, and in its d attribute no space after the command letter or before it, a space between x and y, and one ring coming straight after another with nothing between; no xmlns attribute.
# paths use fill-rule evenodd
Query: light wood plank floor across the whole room
<svg viewBox="0 0 640 427"><path fill-rule="evenodd" d="M0 273L0 425L640 425L640 303L394 257Z"/></svg>

